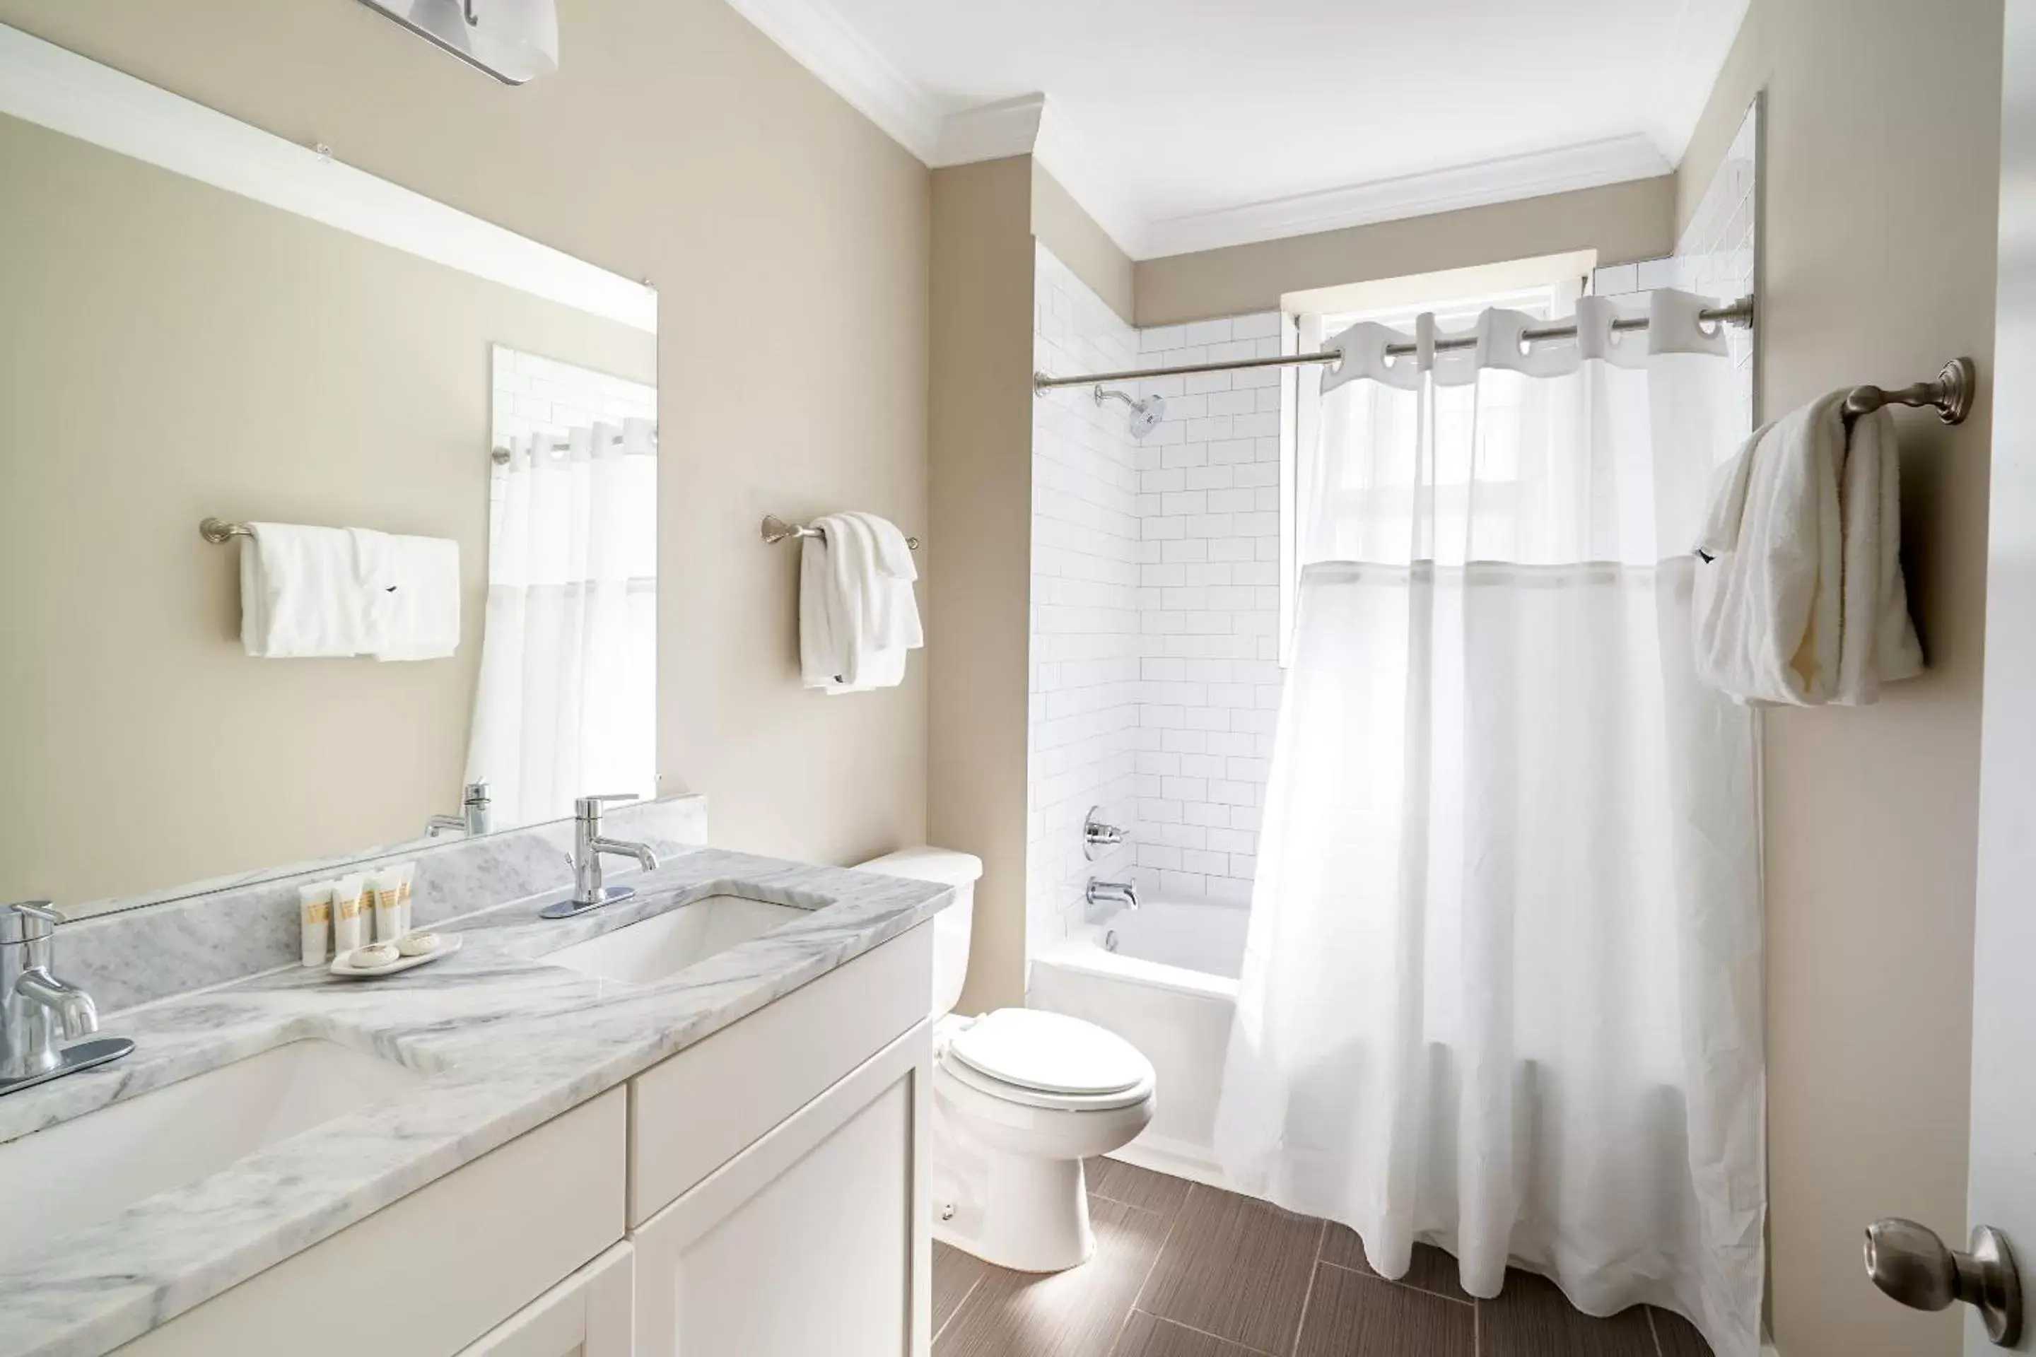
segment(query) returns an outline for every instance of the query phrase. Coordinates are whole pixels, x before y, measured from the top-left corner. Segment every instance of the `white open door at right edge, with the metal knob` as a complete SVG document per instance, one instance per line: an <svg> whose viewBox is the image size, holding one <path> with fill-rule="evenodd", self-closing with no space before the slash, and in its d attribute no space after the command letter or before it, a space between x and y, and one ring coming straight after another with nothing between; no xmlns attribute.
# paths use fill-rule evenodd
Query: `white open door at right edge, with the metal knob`
<svg viewBox="0 0 2036 1357"><path fill-rule="evenodd" d="M2007 6L2001 75L1967 1221L2001 1231L2026 1296L2036 1280L2036 6ZM2036 1351L2030 1329L2024 1320L2016 1351ZM1965 1351L2001 1351L1971 1312Z"/></svg>

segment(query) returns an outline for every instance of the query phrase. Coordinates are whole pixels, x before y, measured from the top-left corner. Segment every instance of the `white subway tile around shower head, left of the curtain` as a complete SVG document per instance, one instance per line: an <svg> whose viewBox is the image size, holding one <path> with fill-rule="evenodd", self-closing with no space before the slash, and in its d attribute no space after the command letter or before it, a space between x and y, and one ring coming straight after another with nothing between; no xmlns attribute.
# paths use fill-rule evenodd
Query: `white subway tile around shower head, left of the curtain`
<svg viewBox="0 0 2036 1357"><path fill-rule="evenodd" d="M1136 332L1038 252L1044 372L1279 352L1279 315ZM1250 903L1279 712L1277 372L1152 378L1167 419L1057 391L1032 421L1028 934L1083 922L1087 879ZM1130 844L1089 863L1101 806Z"/></svg>

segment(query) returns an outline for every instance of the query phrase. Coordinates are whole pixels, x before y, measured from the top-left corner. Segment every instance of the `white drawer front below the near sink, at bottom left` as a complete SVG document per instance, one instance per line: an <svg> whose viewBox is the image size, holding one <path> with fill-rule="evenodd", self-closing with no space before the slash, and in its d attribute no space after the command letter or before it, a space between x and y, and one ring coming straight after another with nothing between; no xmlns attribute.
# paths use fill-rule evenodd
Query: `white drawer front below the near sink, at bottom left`
<svg viewBox="0 0 2036 1357"><path fill-rule="evenodd" d="M611 1088L120 1353L458 1353L621 1239L625 1103Z"/></svg>

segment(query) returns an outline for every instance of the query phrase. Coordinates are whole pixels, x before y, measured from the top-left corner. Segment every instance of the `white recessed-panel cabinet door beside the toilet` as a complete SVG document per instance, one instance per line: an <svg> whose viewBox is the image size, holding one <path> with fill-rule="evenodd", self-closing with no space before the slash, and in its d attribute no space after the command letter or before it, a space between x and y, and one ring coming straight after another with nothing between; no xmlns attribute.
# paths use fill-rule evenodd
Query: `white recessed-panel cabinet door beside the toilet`
<svg viewBox="0 0 2036 1357"><path fill-rule="evenodd" d="M639 1357L924 1357L930 1072L922 1021L645 1221Z"/></svg>

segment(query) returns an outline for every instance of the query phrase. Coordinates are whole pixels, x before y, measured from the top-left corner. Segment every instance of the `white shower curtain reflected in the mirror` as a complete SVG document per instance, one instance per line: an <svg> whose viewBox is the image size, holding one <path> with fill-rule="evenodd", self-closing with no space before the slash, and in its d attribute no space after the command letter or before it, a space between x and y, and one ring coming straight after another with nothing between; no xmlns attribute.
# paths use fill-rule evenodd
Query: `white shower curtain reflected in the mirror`
<svg viewBox="0 0 2036 1357"><path fill-rule="evenodd" d="M466 779L497 824L656 791L658 444L652 421L509 441Z"/></svg>

